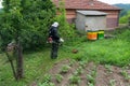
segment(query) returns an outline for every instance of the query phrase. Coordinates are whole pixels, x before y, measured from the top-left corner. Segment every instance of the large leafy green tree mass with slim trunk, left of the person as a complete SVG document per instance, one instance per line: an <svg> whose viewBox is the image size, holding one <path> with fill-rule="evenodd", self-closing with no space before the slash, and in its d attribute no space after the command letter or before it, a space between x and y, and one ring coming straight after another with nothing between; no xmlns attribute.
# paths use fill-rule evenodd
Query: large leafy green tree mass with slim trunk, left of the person
<svg viewBox="0 0 130 86"><path fill-rule="evenodd" d="M0 17L2 48L14 40L16 54L16 80L23 77L23 48L43 46L49 25L55 16L51 0L3 0ZM10 57L10 56L9 56ZM10 59L11 60L11 59Z"/></svg>

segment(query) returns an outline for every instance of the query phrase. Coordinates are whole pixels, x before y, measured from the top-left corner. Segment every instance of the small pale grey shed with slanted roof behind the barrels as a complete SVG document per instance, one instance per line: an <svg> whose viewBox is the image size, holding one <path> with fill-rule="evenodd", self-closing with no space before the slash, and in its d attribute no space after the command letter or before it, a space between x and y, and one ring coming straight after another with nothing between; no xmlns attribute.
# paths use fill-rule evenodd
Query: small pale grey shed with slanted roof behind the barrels
<svg viewBox="0 0 130 86"><path fill-rule="evenodd" d="M107 30L107 13L100 11L77 11L76 28L78 30Z"/></svg>

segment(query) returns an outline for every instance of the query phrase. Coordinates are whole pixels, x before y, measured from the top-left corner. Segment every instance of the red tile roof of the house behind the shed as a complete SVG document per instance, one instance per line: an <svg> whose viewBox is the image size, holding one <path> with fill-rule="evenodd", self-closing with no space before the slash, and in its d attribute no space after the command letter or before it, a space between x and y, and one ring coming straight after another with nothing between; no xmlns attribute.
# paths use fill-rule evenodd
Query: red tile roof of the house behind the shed
<svg viewBox="0 0 130 86"><path fill-rule="evenodd" d="M61 0L52 0L58 8ZM80 9L80 10L120 10L117 6L98 1L98 0L65 0L66 9Z"/></svg>

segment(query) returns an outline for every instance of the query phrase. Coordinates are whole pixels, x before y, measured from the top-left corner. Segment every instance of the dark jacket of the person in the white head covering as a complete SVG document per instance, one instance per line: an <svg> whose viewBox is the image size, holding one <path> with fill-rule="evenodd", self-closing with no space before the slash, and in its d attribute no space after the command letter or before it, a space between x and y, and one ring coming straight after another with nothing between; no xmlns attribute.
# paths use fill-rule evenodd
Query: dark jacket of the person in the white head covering
<svg viewBox="0 0 130 86"><path fill-rule="evenodd" d="M50 28L49 37L51 37L54 42L58 42L60 41L60 35L57 33L57 27L53 27L52 26Z"/></svg>

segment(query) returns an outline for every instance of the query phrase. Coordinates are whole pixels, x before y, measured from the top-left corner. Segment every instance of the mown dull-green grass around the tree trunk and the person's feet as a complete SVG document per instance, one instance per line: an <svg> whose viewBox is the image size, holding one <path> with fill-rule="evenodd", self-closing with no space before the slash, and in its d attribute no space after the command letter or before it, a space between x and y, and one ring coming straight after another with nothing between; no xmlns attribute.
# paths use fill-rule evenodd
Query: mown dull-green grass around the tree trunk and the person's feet
<svg viewBox="0 0 130 86"><path fill-rule="evenodd" d="M65 52L60 52L58 58L52 60L50 58L50 49L43 49L24 55L24 78L16 82L13 77L12 70L4 54L0 54L0 86L26 86L34 81L42 82L44 73L48 72L52 66L68 58Z"/></svg>

